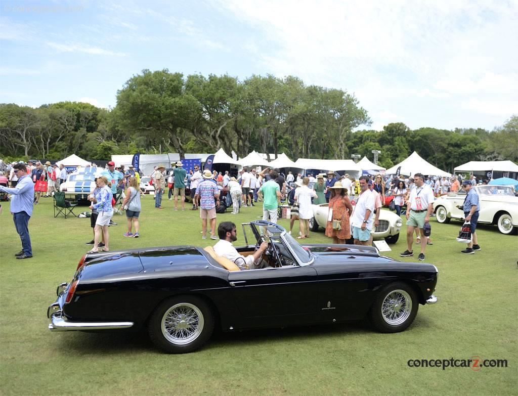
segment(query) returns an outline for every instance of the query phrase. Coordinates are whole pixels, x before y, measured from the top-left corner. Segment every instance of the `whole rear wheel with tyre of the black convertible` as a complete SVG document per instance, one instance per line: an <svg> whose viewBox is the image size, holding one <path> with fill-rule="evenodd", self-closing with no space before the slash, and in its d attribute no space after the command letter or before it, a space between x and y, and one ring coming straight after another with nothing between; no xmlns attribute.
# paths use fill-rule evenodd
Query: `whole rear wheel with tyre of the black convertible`
<svg viewBox="0 0 518 396"><path fill-rule="evenodd" d="M162 302L151 315L149 335L169 354L185 354L205 344L214 330L211 307L195 296L177 296Z"/></svg>

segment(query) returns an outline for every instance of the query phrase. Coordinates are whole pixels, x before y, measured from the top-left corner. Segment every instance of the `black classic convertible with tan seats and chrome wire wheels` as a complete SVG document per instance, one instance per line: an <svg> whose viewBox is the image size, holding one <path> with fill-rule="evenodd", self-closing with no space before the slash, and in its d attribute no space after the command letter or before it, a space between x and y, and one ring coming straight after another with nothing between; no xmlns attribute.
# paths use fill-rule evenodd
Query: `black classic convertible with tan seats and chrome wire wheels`
<svg viewBox="0 0 518 396"><path fill-rule="evenodd" d="M139 329L167 353L202 346L223 331L332 324L367 316L380 332L405 330L433 304L437 268L380 256L370 246L300 245L277 224L243 224L250 255L268 242L270 267L239 270L211 246L88 254L49 306L52 331ZM246 234L251 232L252 242ZM255 245L255 246L254 246Z"/></svg>

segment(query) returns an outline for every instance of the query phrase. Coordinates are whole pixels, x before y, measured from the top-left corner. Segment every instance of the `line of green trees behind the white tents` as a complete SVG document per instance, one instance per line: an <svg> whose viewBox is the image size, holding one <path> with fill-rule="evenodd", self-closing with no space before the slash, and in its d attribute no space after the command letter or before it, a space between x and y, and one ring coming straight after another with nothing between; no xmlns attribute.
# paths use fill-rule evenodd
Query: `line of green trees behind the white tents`
<svg viewBox="0 0 518 396"><path fill-rule="evenodd" d="M384 167L417 151L452 171L468 160L518 161L518 115L492 131L482 128L411 130L392 123L369 126L354 95L306 85L297 77L189 75L167 69L130 78L113 109L81 102L31 108L0 104L0 154L4 157L89 159L113 154L211 153L223 148L239 157L252 150L299 157L348 159L380 150Z"/></svg>

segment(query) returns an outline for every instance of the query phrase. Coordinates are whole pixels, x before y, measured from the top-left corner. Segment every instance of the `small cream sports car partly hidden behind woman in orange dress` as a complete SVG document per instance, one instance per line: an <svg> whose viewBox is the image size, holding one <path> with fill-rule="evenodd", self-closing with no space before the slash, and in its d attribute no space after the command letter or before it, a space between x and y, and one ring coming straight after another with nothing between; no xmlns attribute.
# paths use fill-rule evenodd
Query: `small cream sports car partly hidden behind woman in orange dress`
<svg viewBox="0 0 518 396"><path fill-rule="evenodd" d="M309 228L311 228L311 231L316 232L320 227L325 228L328 215L329 206L327 203L313 205L313 218L309 220ZM399 231L402 225L403 221L401 217L387 210L382 210L380 212L378 227L375 228L372 238L384 238L386 243L396 243L399 239Z"/></svg>

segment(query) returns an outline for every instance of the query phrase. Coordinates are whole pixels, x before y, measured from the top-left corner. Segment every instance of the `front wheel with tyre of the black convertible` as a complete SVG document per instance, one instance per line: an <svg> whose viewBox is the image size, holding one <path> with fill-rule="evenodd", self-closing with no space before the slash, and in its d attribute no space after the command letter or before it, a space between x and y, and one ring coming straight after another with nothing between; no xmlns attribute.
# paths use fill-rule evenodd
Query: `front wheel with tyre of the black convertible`
<svg viewBox="0 0 518 396"><path fill-rule="evenodd" d="M378 293L369 320L382 333L397 333L412 324L418 308L415 291L406 283L395 282Z"/></svg>

